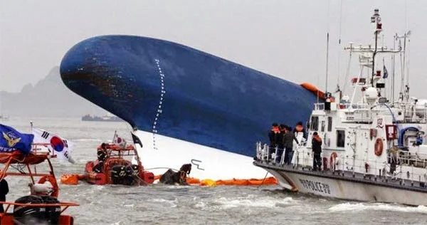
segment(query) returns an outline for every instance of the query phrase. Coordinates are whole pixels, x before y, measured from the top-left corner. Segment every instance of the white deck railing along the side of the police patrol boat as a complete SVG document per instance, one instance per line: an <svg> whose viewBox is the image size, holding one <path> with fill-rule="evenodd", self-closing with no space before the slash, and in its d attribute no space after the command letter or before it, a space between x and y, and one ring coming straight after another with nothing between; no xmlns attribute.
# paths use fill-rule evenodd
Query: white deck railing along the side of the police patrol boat
<svg viewBox="0 0 427 225"><path fill-rule="evenodd" d="M257 159L266 164L274 164L279 167L284 166L285 151L280 162L276 162L278 157L278 147L269 147L267 144L257 142ZM333 153L332 153L333 154ZM387 153L386 159L382 160L367 160L353 158L349 155L334 155L330 152L321 153L321 171L329 171L334 174L362 174L367 179L384 179L387 180L411 180L420 182L424 185L427 182L427 155L417 152L408 152L404 150L396 150ZM292 167L295 169L312 169L313 154L312 150L305 146L298 145L295 154L293 155ZM422 183L422 184L421 184ZM426 185L427 187L427 185Z"/></svg>

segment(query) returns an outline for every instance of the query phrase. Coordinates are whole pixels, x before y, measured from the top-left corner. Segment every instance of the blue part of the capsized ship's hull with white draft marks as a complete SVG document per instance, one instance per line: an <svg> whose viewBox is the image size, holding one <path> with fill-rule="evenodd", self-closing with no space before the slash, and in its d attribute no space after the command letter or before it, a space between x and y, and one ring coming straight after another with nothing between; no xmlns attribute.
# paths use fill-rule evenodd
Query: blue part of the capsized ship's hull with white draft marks
<svg viewBox="0 0 427 225"><path fill-rule="evenodd" d="M253 156L273 122L307 121L316 96L170 41L97 36L60 64L65 85L138 130Z"/></svg>

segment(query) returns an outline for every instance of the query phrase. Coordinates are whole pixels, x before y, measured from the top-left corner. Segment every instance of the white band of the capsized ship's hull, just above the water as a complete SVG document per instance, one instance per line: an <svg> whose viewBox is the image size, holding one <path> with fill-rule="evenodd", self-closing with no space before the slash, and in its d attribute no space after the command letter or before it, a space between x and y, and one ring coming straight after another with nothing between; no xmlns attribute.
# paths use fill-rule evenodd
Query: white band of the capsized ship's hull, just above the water
<svg viewBox="0 0 427 225"><path fill-rule="evenodd" d="M187 163L192 165L190 177L198 179L263 179L266 174L264 169L253 166L252 157L163 135L156 134L153 139L152 132L137 130L133 134L143 145L141 148L135 144L142 165L155 175Z"/></svg>

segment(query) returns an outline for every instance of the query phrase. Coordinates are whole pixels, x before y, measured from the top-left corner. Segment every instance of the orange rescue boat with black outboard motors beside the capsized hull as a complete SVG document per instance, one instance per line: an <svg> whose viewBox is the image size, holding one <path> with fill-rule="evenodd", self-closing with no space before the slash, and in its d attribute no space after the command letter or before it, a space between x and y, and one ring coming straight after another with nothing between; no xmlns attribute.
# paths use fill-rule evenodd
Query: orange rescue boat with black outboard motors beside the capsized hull
<svg viewBox="0 0 427 225"><path fill-rule="evenodd" d="M132 164L135 158L137 164ZM133 145L120 146L102 143L97 147L97 160L86 163L85 175L78 177L89 184L147 185L154 182L154 174L142 167Z"/></svg>

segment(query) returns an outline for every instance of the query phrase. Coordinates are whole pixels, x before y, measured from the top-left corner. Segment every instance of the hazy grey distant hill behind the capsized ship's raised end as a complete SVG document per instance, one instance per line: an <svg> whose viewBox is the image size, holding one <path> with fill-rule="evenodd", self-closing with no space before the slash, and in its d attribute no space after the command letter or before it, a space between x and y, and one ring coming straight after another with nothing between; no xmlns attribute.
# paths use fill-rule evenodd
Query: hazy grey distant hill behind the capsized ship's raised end
<svg viewBox="0 0 427 225"><path fill-rule="evenodd" d="M36 85L25 85L21 93L0 91L1 114L9 117L81 117L86 114L106 115L107 111L68 89L56 66Z"/></svg>

